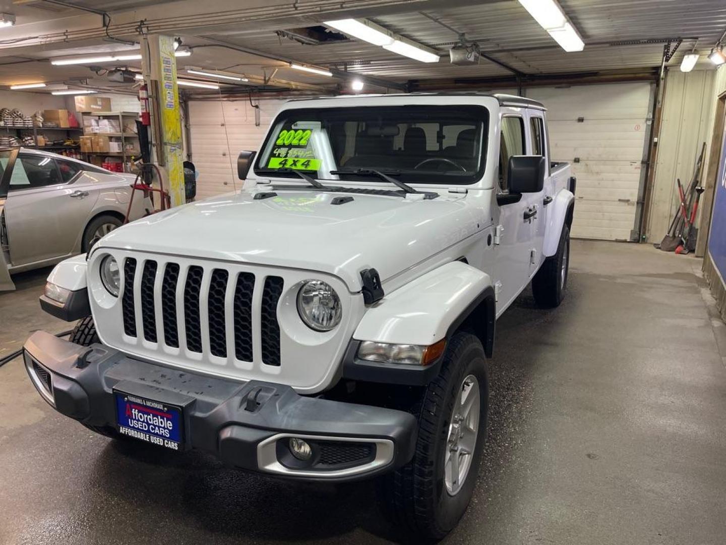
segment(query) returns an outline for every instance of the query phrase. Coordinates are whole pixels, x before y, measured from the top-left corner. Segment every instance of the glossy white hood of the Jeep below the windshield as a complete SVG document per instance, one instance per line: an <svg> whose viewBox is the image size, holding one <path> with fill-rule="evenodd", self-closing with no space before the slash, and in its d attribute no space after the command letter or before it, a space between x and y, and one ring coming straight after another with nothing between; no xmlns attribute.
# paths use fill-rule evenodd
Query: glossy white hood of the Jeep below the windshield
<svg viewBox="0 0 726 545"><path fill-rule="evenodd" d="M361 288L360 271L381 280L478 230L467 199L275 190L255 200L243 191L139 219L106 235L98 247L176 254L321 271ZM333 198L353 200L333 204ZM483 225L482 225L483 227Z"/></svg>

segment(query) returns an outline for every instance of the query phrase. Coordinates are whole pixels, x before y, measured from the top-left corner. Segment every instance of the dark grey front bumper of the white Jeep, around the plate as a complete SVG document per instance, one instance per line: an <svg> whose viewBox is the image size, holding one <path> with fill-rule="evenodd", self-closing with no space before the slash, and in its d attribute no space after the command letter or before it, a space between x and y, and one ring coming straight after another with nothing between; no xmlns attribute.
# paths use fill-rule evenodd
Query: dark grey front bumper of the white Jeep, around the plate
<svg viewBox="0 0 726 545"><path fill-rule="evenodd" d="M403 411L305 397L282 384L192 374L101 344L82 347L44 331L30 336L24 349L31 381L65 416L90 426L116 427L114 389L177 405L183 408L184 448L213 453L234 467L347 481L401 467L415 450L416 421ZM328 451L336 445L375 446L371 458L357 465L296 467L300 464L287 456L290 437L303 437Z"/></svg>

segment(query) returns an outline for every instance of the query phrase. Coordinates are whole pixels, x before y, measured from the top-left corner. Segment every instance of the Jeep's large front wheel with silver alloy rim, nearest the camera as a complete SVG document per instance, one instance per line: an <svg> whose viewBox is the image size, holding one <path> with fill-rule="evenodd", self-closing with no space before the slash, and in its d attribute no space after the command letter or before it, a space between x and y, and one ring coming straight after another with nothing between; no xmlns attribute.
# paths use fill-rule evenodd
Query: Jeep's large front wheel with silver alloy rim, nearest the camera
<svg viewBox="0 0 726 545"><path fill-rule="evenodd" d="M484 448L488 400L484 348L476 336L457 333L446 347L439 376L414 408L414 457L387 475L381 487L388 512L420 540L446 536L469 505Z"/></svg>

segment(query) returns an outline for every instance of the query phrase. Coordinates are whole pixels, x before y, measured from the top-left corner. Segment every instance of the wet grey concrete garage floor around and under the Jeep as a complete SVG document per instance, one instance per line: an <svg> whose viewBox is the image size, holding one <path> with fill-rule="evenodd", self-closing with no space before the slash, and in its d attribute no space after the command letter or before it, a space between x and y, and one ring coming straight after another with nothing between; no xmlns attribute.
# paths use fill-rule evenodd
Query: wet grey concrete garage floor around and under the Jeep
<svg viewBox="0 0 726 545"><path fill-rule="evenodd" d="M473 503L449 543L723 544L726 333L701 261L574 241L567 299L497 323ZM35 328L46 272L0 295L0 357ZM720 350L719 350L720 349ZM370 483L292 485L198 453L115 444L0 368L0 543L386 543Z"/></svg>

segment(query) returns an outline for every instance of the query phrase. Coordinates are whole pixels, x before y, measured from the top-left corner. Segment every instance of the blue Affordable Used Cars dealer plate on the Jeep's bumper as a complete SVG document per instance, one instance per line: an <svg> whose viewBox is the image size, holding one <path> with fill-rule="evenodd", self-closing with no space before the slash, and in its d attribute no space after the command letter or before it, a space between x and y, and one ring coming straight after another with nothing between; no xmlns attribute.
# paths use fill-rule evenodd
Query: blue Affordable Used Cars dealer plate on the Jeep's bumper
<svg viewBox="0 0 726 545"><path fill-rule="evenodd" d="M114 393L119 433L181 451L181 408L125 392Z"/></svg>

